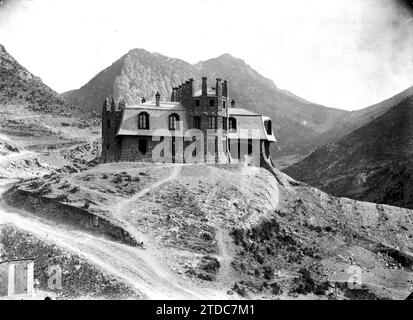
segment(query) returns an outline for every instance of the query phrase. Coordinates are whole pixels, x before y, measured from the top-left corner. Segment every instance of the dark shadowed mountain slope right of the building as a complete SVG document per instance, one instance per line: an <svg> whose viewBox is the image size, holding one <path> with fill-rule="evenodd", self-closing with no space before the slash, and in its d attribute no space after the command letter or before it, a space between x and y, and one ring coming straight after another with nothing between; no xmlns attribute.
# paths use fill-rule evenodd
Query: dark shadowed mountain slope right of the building
<svg viewBox="0 0 413 320"><path fill-rule="evenodd" d="M413 94L391 101L383 115L284 171L336 196L413 208Z"/></svg>

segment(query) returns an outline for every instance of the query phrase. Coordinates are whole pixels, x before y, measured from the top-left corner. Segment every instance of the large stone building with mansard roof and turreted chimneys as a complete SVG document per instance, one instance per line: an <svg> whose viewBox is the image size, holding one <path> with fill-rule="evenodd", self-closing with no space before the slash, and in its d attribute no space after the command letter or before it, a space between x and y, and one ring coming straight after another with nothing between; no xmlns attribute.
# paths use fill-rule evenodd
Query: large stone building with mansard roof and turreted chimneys
<svg viewBox="0 0 413 320"><path fill-rule="evenodd" d="M260 165L275 142L271 119L235 105L228 83L217 78L201 90L194 80L173 88L170 100L142 99L126 106L106 99L102 110L101 162L237 163ZM252 159L252 160L251 160Z"/></svg>

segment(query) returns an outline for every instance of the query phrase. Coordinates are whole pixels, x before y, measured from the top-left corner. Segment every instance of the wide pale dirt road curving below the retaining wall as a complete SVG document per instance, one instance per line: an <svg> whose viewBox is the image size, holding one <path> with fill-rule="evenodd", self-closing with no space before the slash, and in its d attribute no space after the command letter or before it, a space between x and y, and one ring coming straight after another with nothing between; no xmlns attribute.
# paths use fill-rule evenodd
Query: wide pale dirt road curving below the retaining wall
<svg viewBox="0 0 413 320"><path fill-rule="evenodd" d="M0 192L4 190L0 189ZM149 299L208 299L212 292L201 292L173 275L159 263L152 250L108 240L67 225L12 208L0 201L0 223L13 224L40 239L85 258L99 269L138 289ZM211 294L211 295L209 295Z"/></svg>

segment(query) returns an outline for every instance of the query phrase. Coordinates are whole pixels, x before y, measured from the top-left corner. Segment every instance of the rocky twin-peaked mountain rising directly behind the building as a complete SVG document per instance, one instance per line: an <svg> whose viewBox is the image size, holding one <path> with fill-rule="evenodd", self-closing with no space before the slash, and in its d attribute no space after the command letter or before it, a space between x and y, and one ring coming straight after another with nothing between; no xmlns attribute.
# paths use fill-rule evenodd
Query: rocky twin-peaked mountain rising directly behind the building
<svg viewBox="0 0 413 320"><path fill-rule="evenodd" d="M217 76L227 79L230 96L238 106L274 119L279 141L276 156L306 154L317 145L317 137L322 132L331 129L347 114L278 89L243 60L229 54L190 65L159 53L134 49L80 89L66 92L63 97L85 110L100 112L105 97L123 98L127 104L136 104L143 96L152 98L159 91L162 99L169 99L173 86L192 77L199 88L204 75L209 78L209 87L215 86Z"/></svg>

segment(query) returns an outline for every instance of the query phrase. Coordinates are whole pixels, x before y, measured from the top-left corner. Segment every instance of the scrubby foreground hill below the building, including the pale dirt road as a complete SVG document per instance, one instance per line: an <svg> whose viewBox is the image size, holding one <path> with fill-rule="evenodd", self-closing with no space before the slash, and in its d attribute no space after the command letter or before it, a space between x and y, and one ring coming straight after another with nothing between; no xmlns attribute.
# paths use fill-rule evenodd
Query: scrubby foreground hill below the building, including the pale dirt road
<svg viewBox="0 0 413 320"><path fill-rule="evenodd" d="M277 170L104 164L3 197L33 212L21 219L53 224L49 241L148 298L404 299L413 289L413 211L335 198ZM137 246L119 243L126 233Z"/></svg>

